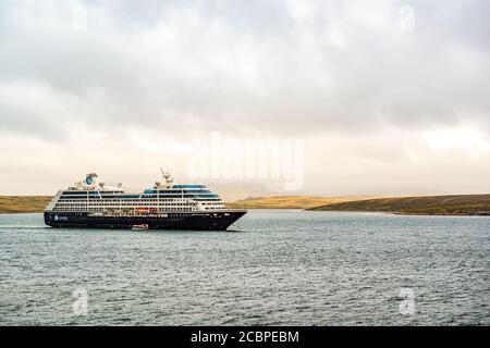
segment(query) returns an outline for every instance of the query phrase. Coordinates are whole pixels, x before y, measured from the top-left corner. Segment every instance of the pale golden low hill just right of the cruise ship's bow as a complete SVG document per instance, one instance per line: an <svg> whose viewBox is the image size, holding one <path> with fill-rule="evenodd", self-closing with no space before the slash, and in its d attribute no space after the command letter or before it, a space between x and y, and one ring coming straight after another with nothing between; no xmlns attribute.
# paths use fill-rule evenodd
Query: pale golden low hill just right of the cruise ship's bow
<svg viewBox="0 0 490 348"><path fill-rule="evenodd" d="M379 198L379 196L341 196L341 197L321 197L321 196L271 196L271 197L250 197L226 202L226 208L232 209L308 209L324 204L348 202L353 200Z"/></svg>

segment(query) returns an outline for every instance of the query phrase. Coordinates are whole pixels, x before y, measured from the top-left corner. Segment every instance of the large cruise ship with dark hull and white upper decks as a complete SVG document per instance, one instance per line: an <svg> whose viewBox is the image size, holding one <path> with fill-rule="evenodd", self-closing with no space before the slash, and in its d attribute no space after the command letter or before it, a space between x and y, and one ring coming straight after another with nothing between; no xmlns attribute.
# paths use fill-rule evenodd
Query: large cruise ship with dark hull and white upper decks
<svg viewBox="0 0 490 348"><path fill-rule="evenodd" d="M52 227L224 231L247 211L225 209L206 185L174 184L162 171L162 182L131 192L121 184L108 186L95 173L60 190L45 210Z"/></svg>

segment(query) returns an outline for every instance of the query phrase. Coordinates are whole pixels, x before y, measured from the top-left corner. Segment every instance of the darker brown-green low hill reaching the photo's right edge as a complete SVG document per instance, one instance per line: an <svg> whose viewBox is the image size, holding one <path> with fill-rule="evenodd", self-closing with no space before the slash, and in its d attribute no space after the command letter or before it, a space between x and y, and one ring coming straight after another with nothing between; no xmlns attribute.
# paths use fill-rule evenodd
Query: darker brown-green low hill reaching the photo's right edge
<svg viewBox="0 0 490 348"><path fill-rule="evenodd" d="M310 210L391 212L421 215L490 215L490 195L368 199L326 204Z"/></svg>

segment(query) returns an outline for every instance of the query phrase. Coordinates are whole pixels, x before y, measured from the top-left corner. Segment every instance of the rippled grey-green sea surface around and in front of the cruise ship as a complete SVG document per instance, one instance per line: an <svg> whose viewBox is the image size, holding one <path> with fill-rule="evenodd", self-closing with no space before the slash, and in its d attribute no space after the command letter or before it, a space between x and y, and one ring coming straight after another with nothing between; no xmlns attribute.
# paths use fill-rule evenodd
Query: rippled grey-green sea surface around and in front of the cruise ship
<svg viewBox="0 0 490 348"><path fill-rule="evenodd" d="M0 324L490 324L490 217L250 211L232 229L0 215Z"/></svg>

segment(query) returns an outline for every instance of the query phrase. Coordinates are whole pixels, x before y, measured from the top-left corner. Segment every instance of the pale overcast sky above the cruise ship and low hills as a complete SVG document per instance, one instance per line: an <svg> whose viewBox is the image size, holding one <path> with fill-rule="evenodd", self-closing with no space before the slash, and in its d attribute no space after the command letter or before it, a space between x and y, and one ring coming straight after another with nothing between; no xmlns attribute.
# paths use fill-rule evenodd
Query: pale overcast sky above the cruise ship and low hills
<svg viewBox="0 0 490 348"><path fill-rule="evenodd" d="M163 166L185 182L189 145L216 133L304 141L296 194L488 194L489 13L471 0L2 1L0 195L94 171L138 187Z"/></svg>

